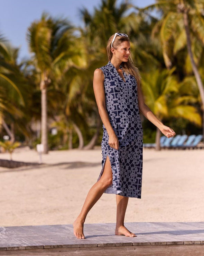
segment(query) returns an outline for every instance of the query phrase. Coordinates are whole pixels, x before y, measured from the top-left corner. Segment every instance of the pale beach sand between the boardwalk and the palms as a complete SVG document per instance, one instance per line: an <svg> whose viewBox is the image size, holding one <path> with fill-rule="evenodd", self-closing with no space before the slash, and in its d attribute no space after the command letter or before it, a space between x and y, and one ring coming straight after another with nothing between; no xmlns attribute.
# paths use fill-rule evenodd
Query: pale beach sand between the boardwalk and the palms
<svg viewBox="0 0 204 256"><path fill-rule="evenodd" d="M1 159L9 159L1 153ZM37 162L35 150L13 160ZM44 164L0 168L0 226L71 224L101 171L101 149L50 151ZM146 149L142 198L130 198L126 222L204 221L204 150ZM86 223L115 222L115 195L103 194Z"/></svg>

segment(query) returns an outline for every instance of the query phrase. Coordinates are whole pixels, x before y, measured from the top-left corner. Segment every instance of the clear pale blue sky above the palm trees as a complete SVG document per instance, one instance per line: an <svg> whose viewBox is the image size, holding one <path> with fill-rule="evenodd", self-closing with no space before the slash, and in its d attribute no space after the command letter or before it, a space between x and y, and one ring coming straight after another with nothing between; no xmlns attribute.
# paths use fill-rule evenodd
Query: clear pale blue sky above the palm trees
<svg viewBox="0 0 204 256"><path fill-rule="evenodd" d="M27 28L39 20L43 11L54 17L67 18L73 25L82 25L79 9L86 7L91 13L101 0L0 0L0 34L15 47L20 47L19 58L29 56L26 42ZM118 0L118 3L122 0ZM145 7L155 0L132 0L133 5Z"/></svg>

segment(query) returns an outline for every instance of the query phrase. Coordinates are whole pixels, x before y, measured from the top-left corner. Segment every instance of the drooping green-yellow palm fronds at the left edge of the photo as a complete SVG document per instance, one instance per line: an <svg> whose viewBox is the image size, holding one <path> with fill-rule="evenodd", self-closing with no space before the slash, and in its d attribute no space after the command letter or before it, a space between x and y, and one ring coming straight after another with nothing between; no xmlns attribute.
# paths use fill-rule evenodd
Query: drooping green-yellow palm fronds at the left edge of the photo
<svg viewBox="0 0 204 256"><path fill-rule="evenodd" d="M24 116L27 87L20 66L17 65L18 50L0 36L0 123L12 142L15 140L14 119ZM16 125L19 123L18 120Z"/></svg>

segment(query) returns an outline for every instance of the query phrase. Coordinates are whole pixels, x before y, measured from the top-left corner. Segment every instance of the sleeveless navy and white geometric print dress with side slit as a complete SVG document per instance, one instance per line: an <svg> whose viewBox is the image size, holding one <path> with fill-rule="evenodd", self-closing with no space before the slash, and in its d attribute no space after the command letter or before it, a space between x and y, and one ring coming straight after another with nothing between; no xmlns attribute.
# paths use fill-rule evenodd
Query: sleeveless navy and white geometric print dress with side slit
<svg viewBox="0 0 204 256"><path fill-rule="evenodd" d="M122 68L122 66L121 66ZM102 171L109 156L113 182L104 193L141 198L143 130L139 115L137 82L123 72L125 81L109 61L100 68L104 74L105 104L110 123L119 140L119 150L109 146L103 125Z"/></svg>

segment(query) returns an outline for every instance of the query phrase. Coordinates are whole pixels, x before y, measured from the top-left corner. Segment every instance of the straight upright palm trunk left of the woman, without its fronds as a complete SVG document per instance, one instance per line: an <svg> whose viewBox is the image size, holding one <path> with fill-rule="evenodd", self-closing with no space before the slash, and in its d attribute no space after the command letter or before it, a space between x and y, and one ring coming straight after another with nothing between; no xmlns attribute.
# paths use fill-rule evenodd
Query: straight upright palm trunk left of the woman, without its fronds
<svg viewBox="0 0 204 256"><path fill-rule="evenodd" d="M44 146L43 153L47 154L47 88L41 89L41 144Z"/></svg>

